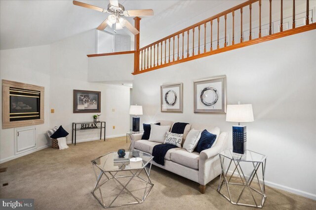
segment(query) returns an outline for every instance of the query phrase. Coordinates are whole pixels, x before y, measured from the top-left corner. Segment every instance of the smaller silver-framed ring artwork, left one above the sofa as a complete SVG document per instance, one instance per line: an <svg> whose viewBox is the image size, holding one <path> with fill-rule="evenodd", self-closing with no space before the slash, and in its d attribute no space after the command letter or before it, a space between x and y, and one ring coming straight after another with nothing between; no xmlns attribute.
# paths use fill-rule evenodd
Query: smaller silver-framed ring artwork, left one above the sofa
<svg viewBox="0 0 316 210"><path fill-rule="evenodd" d="M161 112L183 112L183 84L160 86Z"/></svg>

